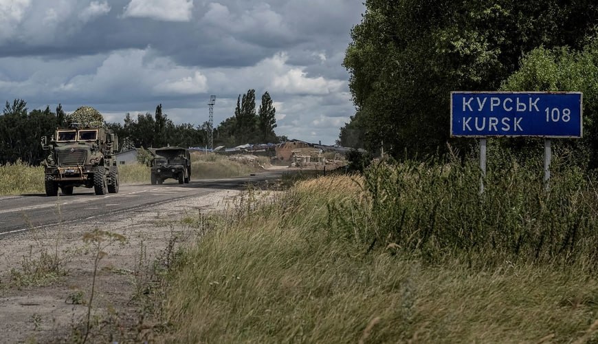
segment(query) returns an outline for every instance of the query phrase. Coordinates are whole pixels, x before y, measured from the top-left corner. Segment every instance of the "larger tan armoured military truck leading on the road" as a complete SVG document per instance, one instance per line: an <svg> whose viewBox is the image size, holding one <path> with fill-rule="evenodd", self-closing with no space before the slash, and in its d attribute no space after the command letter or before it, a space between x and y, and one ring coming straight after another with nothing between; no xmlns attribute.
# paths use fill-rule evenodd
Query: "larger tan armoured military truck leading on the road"
<svg viewBox="0 0 598 344"><path fill-rule="evenodd" d="M54 136L42 138L42 147L50 151L43 162L45 194L72 195L75 186L93 188L96 195L118 193L118 166L115 153L118 137L106 128L80 127L56 129Z"/></svg>

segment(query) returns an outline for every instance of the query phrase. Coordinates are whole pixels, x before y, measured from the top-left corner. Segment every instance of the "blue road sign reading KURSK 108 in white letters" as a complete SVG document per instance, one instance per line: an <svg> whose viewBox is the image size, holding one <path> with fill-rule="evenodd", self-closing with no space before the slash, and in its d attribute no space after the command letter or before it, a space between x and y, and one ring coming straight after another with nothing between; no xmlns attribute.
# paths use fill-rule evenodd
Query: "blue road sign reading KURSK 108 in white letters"
<svg viewBox="0 0 598 344"><path fill-rule="evenodd" d="M581 92L451 92L451 136L582 137Z"/></svg>

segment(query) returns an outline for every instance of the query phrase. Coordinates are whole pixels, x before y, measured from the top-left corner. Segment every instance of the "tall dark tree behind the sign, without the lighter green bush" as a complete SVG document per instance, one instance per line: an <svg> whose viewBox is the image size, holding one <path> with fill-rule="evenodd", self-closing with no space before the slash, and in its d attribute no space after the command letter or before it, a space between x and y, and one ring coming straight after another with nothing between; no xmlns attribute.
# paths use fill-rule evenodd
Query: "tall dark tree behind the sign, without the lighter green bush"
<svg viewBox="0 0 598 344"><path fill-rule="evenodd" d="M492 91L535 47L578 50L595 32L588 0L366 0L344 66L366 149L421 157L449 141L450 92ZM460 144L454 141L453 144Z"/></svg>

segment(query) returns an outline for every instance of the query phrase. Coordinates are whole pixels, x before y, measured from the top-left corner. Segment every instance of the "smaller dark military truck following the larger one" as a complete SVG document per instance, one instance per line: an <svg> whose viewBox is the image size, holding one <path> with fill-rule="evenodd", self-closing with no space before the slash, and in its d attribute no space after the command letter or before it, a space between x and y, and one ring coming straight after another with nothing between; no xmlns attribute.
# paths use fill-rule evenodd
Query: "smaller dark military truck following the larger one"
<svg viewBox="0 0 598 344"><path fill-rule="evenodd" d="M188 149L181 147L162 147L155 149L151 161L151 183L162 184L173 178L179 184L188 183L191 178L191 157Z"/></svg>

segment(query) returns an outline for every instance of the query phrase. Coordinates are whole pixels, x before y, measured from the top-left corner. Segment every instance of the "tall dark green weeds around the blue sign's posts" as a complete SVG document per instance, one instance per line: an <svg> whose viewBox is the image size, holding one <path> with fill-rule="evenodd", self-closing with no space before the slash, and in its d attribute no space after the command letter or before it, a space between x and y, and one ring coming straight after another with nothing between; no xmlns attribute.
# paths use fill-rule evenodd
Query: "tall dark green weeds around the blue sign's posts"
<svg viewBox="0 0 598 344"><path fill-rule="evenodd" d="M509 260L597 268L595 179L560 166L546 191L543 176L540 164L503 160L489 169L480 195L476 162L381 162L365 173L368 197L330 205L331 226L430 261L458 256L476 266ZM356 216L346 216L355 209Z"/></svg>

